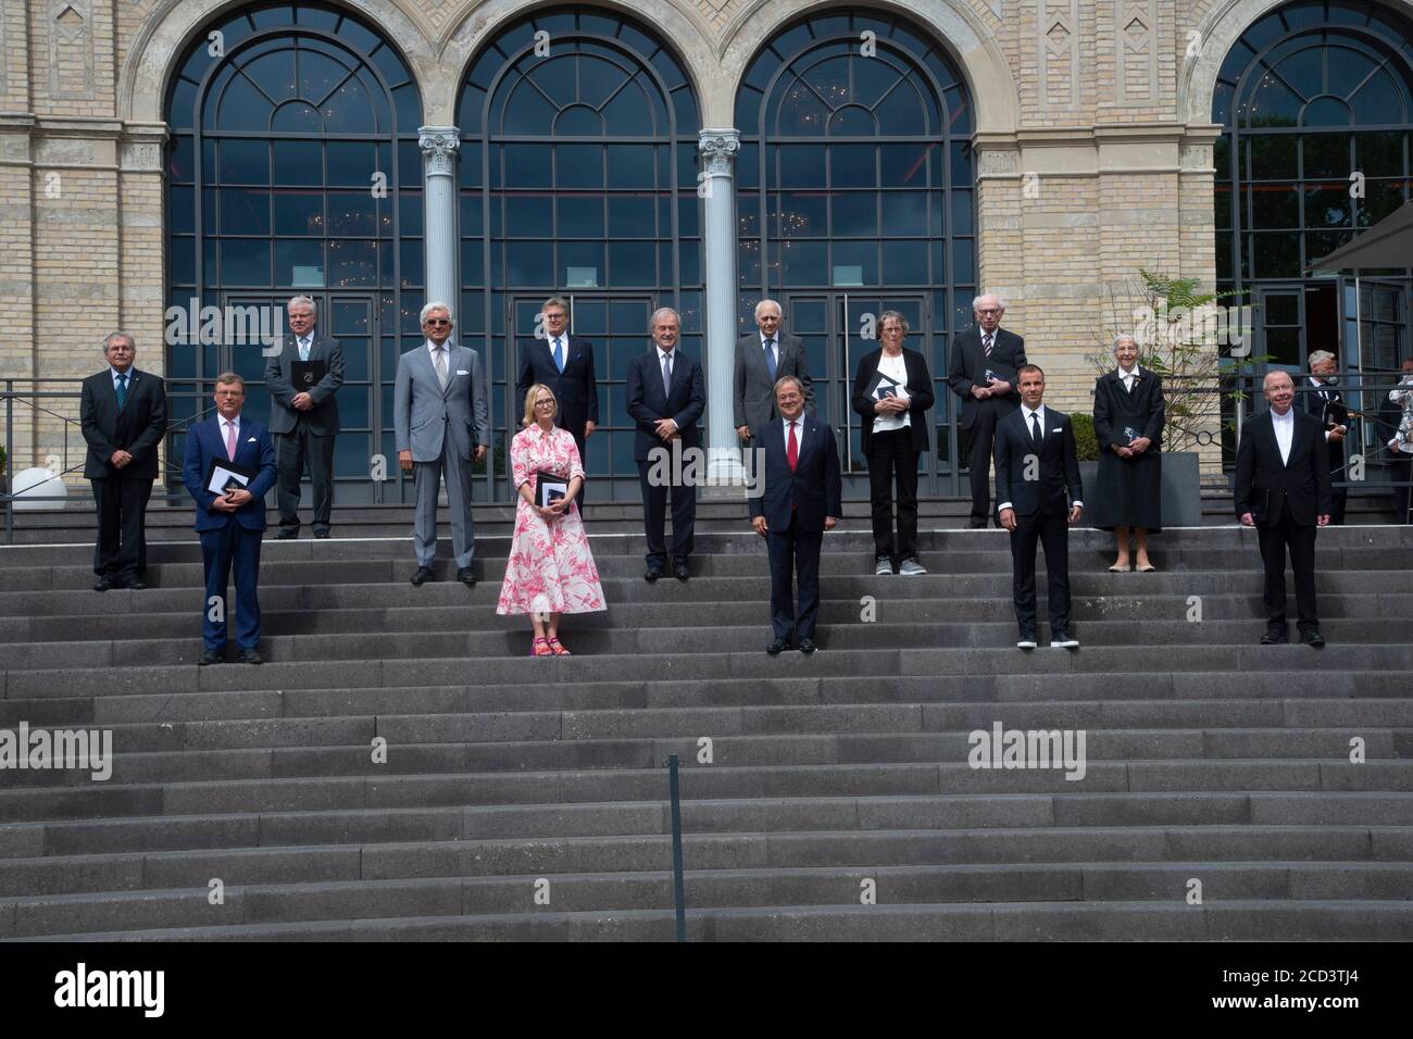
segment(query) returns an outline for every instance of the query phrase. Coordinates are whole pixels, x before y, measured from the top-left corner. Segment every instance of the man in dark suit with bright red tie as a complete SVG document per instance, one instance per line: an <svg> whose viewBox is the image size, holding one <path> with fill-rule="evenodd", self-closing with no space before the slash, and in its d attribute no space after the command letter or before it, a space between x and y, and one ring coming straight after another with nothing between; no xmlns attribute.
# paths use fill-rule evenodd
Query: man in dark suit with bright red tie
<svg viewBox="0 0 1413 1039"><path fill-rule="evenodd" d="M820 548L824 532L844 515L844 483L834 431L804 416L804 382L793 375L776 383L780 418L756 427L752 447L766 452L764 491L750 498L750 526L770 553L770 628L767 653L791 642L814 653L814 622L820 614ZM800 609L794 580L800 575Z"/></svg>

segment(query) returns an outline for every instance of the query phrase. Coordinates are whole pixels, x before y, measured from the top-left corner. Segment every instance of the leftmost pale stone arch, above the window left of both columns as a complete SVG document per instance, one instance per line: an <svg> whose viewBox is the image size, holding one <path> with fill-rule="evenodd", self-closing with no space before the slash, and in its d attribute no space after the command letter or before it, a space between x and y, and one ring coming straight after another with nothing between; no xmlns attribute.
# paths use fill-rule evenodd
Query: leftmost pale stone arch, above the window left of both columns
<svg viewBox="0 0 1413 1039"><path fill-rule="evenodd" d="M177 61L208 25L250 0L161 0L137 31L117 81L117 116L130 123L164 123L167 88ZM437 57L422 27L391 0L324 0L360 14L398 48L422 99L422 122L432 103Z"/></svg>

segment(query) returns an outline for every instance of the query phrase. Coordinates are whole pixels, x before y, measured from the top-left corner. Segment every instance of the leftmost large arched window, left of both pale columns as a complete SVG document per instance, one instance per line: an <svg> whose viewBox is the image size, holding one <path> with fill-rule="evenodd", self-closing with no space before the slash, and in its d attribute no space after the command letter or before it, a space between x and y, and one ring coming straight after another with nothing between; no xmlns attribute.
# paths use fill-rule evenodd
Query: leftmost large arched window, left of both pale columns
<svg viewBox="0 0 1413 1039"><path fill-rule="evenodd" d="M420 339L421 100L407 64L345 11L252 7L188 47L167 122L168 305L283 307L311 295L346 363L335 472L372 496L369 459L394 457L400 329ZM175 418L205 410L225 369L247 379L247 413L268 416L266 359L246 335L167 352Z"/></svg>

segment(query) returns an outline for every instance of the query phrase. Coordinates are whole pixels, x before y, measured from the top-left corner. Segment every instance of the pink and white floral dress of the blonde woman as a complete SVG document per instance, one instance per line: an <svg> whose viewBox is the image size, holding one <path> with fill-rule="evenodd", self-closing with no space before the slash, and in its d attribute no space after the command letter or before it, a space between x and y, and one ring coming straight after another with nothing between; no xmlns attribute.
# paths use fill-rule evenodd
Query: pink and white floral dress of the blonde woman
<svg viewBox="0 0 1413 1039"><path fill-rule="evenodd" d="M510 475L516 491L521 483L530 483L534 491L537 472L567 481L584 475L579 448L567 430L547 434L531 425L510 441ZM592 614L605 608L579 506L571 502L562 516L544 520L521 498L516 505L516 532L496 612Z"/></svg>

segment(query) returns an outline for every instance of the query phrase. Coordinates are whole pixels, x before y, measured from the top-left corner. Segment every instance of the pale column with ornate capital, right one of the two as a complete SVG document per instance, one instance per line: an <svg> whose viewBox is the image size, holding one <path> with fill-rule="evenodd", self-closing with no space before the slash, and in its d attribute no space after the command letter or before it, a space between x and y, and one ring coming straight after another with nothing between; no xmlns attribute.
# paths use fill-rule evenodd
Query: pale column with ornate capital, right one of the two
<svg viewBox="0 0 1413 1039"><path fill-rule="evenodd" d="M702 130L697 147L702 158L701 192L705 199L702 240L706 264L706 496L739 496L745 482L740 441L732 414L732 382L736 358L736 153L740 134L733 129ZM722 491L725 488L725 492ZM714 495L712 492L716 492Z"/></svg>

